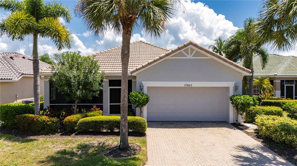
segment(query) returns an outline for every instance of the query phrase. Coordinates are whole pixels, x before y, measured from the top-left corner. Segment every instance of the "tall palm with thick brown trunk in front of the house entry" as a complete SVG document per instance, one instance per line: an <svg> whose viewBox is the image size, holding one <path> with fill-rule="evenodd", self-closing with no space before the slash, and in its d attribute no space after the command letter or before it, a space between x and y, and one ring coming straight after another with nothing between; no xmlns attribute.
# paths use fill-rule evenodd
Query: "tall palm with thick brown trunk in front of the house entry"
<svg viewBox="0 0 297 166"><path fill-rule="evenodd" d="M173 14L171 0L81 0L75 12L81 17L95 37L105 30L122 33L121 47L121 127L120 149L130 149L128 143L128 62L132 30L158 38L166 30L166 23Z"/></svg>

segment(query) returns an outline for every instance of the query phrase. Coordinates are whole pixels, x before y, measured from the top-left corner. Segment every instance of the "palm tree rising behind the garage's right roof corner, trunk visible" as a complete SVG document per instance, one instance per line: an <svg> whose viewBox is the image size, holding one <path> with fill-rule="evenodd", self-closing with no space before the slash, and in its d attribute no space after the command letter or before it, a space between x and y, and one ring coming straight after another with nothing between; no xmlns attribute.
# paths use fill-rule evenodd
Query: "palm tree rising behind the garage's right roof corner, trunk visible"
<svg viewBox="0 0 297 166"><path fill-rule="evenodd" d="M248 18L244 20L243 28L237 30L235 35L230 36L226 41L226 58L237 62L243 59L243 66L251 70L249 76L249 95L253 95L253 56L256 54L261 58L262 69L268 61L267 49L254 33L255 19ZM244 80L247 80L244 78Z"/></svg>

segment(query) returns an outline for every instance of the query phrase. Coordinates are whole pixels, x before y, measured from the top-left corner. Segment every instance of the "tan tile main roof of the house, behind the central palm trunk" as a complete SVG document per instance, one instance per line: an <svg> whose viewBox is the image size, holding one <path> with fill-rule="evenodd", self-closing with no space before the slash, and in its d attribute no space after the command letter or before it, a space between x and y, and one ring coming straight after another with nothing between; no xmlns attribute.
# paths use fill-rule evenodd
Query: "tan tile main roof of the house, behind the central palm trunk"
<svg viewBox="0 0 297 166"><path fill-rule="evenodd" d="M151 59L162 55L168 50L144 41L136 41L130 44L130 57L128 70L132 70ZM99 53L94 53L100 69L110 74L121 74L121 46L111 48ZM90 55L90 56L92 56Z"/></svg>

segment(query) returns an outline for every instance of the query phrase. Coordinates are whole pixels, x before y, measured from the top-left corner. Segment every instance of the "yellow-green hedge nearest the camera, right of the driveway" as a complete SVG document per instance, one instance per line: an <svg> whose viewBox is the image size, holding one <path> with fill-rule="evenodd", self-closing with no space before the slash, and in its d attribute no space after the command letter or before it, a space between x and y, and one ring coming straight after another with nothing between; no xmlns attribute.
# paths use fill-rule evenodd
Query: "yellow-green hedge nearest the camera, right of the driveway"
<svg viewBox="0 0 297 166"><path fill-rule="evenodd" d="M297 120L273 115L257 115L255 124L261 136L297 147Z"/></svg>

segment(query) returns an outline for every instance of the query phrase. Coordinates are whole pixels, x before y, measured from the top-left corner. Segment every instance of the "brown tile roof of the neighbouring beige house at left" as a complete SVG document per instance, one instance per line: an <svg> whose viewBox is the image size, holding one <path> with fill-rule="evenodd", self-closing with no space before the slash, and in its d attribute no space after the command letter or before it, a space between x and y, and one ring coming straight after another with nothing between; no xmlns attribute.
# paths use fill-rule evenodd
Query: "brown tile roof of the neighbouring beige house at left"
<svg viewBox="0 0 297 166"><path fill-rule="evenodd" d="M40 68L50 65L39 61ZM0 53L0 79L18 79L22 75L33 75L32 58L21 53Z"/></svg>

